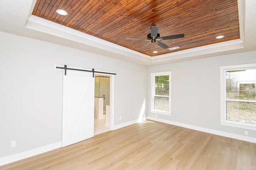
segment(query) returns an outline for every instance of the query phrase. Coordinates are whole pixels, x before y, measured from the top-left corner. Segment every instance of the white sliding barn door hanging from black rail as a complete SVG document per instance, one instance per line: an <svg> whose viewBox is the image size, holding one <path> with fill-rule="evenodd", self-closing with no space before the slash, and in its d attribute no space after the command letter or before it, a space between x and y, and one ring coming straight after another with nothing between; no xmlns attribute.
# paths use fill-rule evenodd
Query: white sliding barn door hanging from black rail
<svg viewBox="0 0 256 170"><path fill-rule="evenodd" d="M94 135L92 72L67 70L63 77L62 147Z"/></svg>

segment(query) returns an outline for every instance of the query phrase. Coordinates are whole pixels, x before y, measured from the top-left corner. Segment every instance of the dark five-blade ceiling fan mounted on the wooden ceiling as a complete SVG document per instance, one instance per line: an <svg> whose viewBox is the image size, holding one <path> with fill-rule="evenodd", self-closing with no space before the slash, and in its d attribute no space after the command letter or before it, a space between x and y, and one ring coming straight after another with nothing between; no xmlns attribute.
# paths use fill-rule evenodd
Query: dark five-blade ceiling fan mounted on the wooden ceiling
<svg viewBox="0 0 256 170"><path fill-rule="evenodd" d="M151 26L151 33L148 34L148 39L140 39L140 38L126 38L128 40L143 40L143 41L149 41L148 43L142 45L138 49L142 49L143 47L146 47L150 43L156 43L160 47L167 49L168 45L160 42L161 40L165 39L176 39L176 38L183 38L184 34L177 34L177 35L169 35L166 37L160 37L160 34L158 33L158 27L157 26Z"/></svg>

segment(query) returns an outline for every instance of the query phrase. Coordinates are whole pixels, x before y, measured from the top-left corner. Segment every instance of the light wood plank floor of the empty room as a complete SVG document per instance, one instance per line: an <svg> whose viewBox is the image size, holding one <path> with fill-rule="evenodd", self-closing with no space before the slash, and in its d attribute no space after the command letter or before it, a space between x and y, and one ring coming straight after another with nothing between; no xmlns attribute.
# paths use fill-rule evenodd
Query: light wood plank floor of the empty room
<svg viewBox="0 0 256 170"><path fill-rule="evenodd" d="M256 143L148 120L0 169L256 170Z"/></svg>

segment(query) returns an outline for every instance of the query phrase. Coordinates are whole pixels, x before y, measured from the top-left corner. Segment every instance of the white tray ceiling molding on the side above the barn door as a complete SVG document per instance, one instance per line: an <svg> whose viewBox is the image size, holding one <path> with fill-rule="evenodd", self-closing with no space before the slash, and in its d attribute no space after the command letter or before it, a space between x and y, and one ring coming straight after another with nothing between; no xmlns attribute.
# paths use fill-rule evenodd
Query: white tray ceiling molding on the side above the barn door
<svg viewBox="0 0 256 170"><path fill-rule="evenodd" d="M113 53L118 53L120 55L125 55L127 57L136 58L142 61L150 62L151 57L137 51L110 43L103 39L94 37L92 35L77 31L75 29L66 27L64 25L54 23L52 21L31 15L29 16L27 23L25 25L28 29L33 29L36 31L48 33L50 35L62 37L64 39L72 40L84 45L89 45L106 51L111 51Z"/></svg>

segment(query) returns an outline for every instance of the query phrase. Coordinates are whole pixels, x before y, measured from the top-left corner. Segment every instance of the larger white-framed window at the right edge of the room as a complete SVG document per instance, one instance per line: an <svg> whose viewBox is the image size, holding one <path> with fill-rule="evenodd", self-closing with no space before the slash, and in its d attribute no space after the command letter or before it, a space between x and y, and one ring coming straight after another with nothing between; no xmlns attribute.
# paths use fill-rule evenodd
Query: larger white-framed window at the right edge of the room
<svg viewBox="0 0 256 170"><path fill-rule="evenodd" d="M256 64L220 67L221 124L256 130Z"/></svg>

